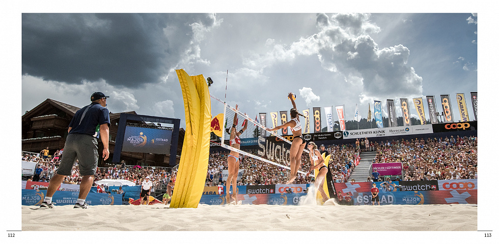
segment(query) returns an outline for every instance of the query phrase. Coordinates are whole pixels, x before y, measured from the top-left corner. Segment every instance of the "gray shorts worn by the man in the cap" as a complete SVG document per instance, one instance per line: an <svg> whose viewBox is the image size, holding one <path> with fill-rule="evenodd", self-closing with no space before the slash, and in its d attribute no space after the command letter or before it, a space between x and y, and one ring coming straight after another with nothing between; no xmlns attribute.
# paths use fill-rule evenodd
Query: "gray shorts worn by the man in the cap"
<svg viewBox="0 0 499 244"><path fill-rule="evenodd" d="M80 175L94 175L99 160L97 147L97 138L91 135L69 134L64 144L64 154L57 173L71 175L73 164L78 159Z"/></svg>

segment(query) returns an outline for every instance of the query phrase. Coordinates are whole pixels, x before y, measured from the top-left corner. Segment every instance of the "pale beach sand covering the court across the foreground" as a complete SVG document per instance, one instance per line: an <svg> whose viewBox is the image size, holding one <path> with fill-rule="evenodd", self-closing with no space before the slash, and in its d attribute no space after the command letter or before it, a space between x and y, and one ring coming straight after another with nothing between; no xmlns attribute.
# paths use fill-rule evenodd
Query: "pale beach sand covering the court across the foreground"
<svg viewBox="0 0 499 244"><path fill-rule="evenodd" d="M477 205L22 206L23 231L477 231Z"/></svg>

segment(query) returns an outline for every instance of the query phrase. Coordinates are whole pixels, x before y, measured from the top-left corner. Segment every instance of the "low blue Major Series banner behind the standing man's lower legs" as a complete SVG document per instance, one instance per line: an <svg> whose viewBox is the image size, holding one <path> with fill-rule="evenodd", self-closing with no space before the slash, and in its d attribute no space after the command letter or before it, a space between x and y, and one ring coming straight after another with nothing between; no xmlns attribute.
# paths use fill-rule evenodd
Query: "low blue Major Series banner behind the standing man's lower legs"
<svg viewBox="0 0 499 244"><path fill-rule="evenodd" d="M21 192L21 205L40 206L47 191L25 190ZM78 199L79 192L56 191L52 196L52 202L60 205L74 205ZM89 205L122 205L121 194L89 193L85 202Z"/></svg>

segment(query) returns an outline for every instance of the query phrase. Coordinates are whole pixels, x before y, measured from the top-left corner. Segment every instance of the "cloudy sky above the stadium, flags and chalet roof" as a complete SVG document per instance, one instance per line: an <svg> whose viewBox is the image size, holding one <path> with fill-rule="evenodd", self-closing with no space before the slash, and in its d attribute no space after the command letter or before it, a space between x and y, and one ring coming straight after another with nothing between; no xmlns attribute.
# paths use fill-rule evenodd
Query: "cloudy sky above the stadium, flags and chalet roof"
<svg viewBox="0 0 499 244"><path fill-rule="evenodd" d="M401 116L400 98L416 116L412 98L441 94L457 120L464 93L474 119L475 13L26 13L21 22L22 114L47 98L83 107L101 91L111 112L180 118L184 127L175 73L184 69L211 77L221 99L227 80L227 102L252 118L289 110L293 92L298 109L344 104L348 120L355 104L366 118L373 100L386 115L386 99Z"/></svg>

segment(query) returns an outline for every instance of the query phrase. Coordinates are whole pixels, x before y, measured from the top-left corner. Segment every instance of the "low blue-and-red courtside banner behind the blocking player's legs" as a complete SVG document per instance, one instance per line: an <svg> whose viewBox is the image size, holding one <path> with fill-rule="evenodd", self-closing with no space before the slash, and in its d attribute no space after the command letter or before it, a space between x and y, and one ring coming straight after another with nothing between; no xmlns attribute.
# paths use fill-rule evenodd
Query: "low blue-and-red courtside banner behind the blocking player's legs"
<svg viewBox="0 0 499 244"><path fill-rule="evenodd" d="M237 200L242 204L267 204L267 205L298 205L301 196L304 193L292 194L238 194ZM225 196L219 195L203 195L201 196L200 204L208 205L224 205L227 204Z"/></svg>

